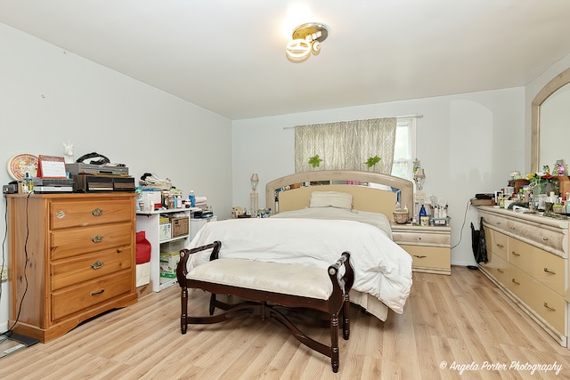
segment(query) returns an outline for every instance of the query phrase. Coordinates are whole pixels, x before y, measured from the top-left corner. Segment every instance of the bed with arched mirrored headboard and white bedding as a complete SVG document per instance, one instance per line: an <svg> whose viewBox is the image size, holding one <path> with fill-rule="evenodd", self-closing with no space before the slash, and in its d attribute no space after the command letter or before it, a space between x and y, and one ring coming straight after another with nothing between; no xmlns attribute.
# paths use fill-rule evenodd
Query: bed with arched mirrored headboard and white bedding
<svg viewBox="0 0 570 380"><path fill-rule="evenodd" d="M314 171L268 182L265 199L272 217L209 222L189 248L219 240L225 257L323 268L349 251L355 272L351 303L383 321L388 310L403 313L411 256L392 241L390 223L396 203L412 206L410 181L370 172ZM196 255L188 265L207 262L208 255Z"/></svg>

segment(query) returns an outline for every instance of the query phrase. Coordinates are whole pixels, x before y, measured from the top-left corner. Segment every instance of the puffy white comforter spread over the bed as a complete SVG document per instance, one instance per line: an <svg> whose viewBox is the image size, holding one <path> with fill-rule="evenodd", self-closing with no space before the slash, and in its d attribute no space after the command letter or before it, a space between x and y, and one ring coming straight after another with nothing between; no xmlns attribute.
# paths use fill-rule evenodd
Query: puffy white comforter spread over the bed
<svg viewBox="0 0 570 380"><path fill-rule="evenodd" d="M385 232L368 223L273 217L208 222L191 240L189 248L216 240L222 242L220 257L325 269L349 251L354 290L374 295L399 314L410 295L411 256ZM209 253L194 255L189 269L208 260Z"/></svg>

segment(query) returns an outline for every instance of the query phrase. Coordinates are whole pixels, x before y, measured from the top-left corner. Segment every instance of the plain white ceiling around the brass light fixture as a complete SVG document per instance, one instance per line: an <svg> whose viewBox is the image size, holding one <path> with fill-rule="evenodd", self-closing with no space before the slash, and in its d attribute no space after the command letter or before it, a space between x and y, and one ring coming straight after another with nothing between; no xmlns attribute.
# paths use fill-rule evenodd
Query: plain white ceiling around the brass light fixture
<svg viewBox="0 0 570 380"><path fill-rule="evenodd" d="M524 86L566 0L0 0L0 22L232 120ZM329 26L288 61L297 25Z"/></svg>

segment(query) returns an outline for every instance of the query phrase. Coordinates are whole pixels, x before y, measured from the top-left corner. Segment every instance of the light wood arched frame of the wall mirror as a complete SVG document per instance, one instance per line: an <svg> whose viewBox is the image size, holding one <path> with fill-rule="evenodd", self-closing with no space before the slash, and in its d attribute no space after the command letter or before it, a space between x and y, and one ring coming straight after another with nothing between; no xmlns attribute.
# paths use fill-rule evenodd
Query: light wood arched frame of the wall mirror
<svg viewBox="0 0 570 380"><path fill-rule="evenodd" d="M541 146L541 105L551 94L563 85L570 83L570 68L562 71L558 76L552 78L550 82L542 87L531 103L531 171L537 173L540 167L540 146Z"/></svg>

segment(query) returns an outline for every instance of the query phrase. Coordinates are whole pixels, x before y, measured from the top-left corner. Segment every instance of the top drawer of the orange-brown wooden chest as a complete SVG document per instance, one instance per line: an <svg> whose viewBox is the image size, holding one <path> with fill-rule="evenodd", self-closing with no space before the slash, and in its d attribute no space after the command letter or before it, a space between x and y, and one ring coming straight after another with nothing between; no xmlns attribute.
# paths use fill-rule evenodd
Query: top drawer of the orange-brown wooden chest
<svg viewBox="0 0 570 380"><path fill-rule="evenodd" d="M130 199L61 200L50 204L52 230L114 222L129 222Z"/></svg>

